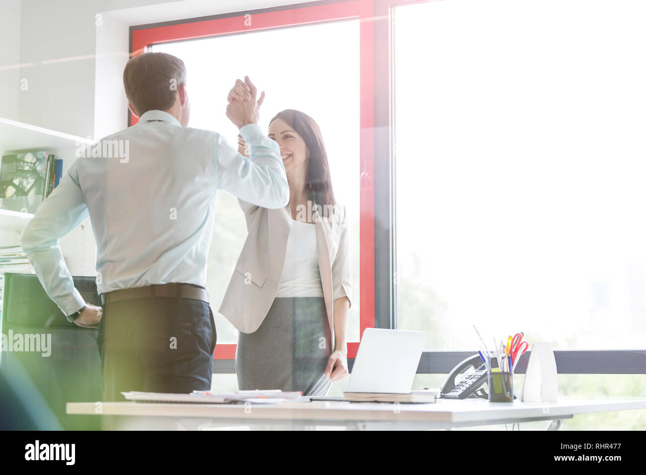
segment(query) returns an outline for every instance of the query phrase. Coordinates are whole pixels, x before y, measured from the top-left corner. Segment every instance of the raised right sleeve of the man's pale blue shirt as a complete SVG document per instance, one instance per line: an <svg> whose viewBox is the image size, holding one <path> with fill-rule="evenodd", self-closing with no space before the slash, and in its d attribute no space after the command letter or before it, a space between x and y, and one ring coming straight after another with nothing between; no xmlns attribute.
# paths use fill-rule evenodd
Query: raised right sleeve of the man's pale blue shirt
<svg viewBox="0 0 646 475"><path fill-rule="evenodd" d="M269 209L287 206L289 186L278 143L263 135L255 123L242 127L240 134L249 144L249 157L216 134L216 187L252 205Z"/></svg>

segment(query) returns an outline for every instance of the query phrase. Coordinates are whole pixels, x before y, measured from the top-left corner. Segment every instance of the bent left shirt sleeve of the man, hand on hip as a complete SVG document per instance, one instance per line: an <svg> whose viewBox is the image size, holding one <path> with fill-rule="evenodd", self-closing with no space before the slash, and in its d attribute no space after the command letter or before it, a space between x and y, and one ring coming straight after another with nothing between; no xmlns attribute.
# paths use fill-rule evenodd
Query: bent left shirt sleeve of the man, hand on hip
<svg viewBox="0 0 646 475"><path fill-rule="evenodd" d="M65 315L71 315L85 305L67 269L59 238L67 235L89 216L85 198L76 176L76 164L61 178L61 182L40 204L27 224L21 246L34 266L38 280Z"/></svg>

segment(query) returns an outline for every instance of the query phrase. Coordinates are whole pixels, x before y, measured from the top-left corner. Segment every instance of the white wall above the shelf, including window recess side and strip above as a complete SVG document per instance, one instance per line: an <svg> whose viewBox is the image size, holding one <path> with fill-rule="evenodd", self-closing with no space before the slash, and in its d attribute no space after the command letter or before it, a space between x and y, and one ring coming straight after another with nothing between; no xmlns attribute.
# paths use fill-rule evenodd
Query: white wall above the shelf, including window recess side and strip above
<svg viewBox="0 0 646 475"><path fill-rule="evenodd" d="M127 125L129 26L305 1L22 0L19 59L30 65L19 70L29 89L18 120L82 137L115 132Z"/></svg>

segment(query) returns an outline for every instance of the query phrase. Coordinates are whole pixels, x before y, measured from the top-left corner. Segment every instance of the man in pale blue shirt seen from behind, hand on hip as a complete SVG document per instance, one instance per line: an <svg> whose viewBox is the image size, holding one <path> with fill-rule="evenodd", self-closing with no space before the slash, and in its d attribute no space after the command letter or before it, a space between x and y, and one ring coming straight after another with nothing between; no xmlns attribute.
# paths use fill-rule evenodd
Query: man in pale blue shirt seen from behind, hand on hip
<svg viewBox="0 0 646 475"><path fill-rule="evenodd" d="M245 158L216 132L187 127L185 76L169 54L130 59L123 85L138 123L82 153L22 239L68 320L99 329L104 401L123 400L121 391L211 388L216 330L204 286L216 189L268 208L289 201L278 145L256 124L264 93L256 101L245 78L246 97L227 105L250 144ZM58 246L87 216L102 307L83 301Z"/></svg>

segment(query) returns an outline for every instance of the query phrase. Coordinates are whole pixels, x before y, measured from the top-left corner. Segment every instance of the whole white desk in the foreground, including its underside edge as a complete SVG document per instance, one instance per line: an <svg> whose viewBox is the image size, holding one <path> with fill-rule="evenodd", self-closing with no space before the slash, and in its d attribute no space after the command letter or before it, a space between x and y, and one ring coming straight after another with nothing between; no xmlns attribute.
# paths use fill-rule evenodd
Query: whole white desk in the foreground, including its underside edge
<svg viewBox="0 0 646 475"><path fill-rule="evenodd" d="M439 399L434 404L313 401L271 405L102 403L103 428L116 430L209 430L225 427L299 429L315 425L353 430L422 430L552 421L576 414L644 409L646 400L562 399L557 403L490 403ZM97 403L67 403L67 414L96 414Z"/></svg>

